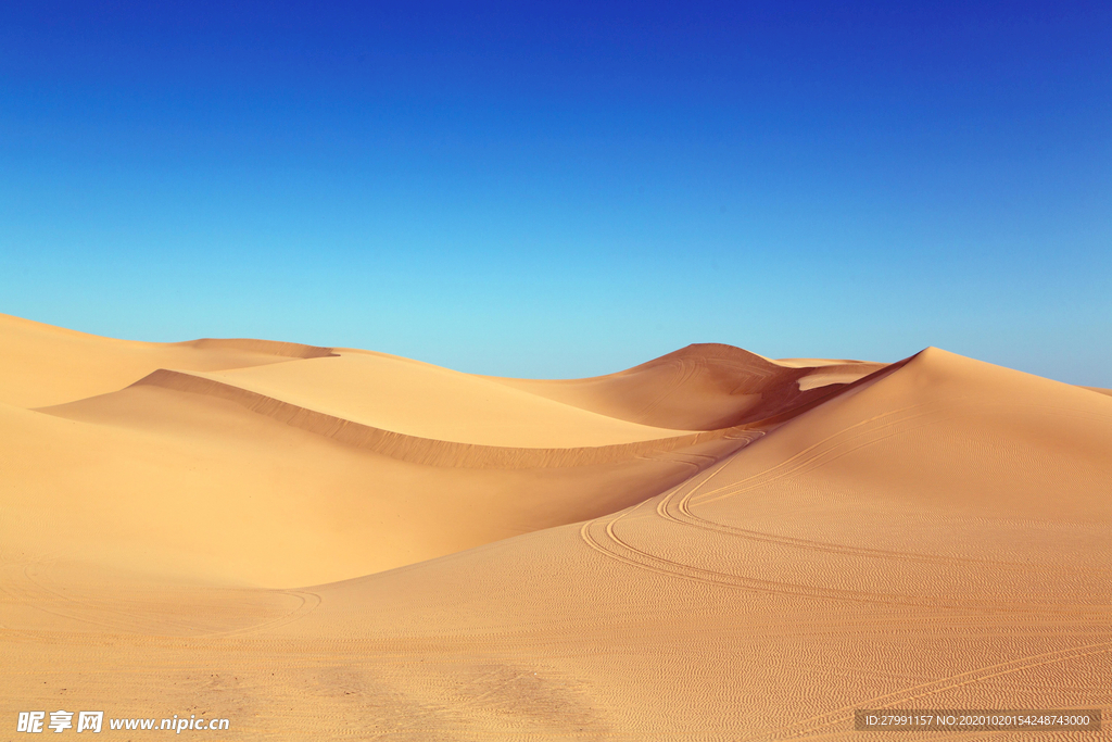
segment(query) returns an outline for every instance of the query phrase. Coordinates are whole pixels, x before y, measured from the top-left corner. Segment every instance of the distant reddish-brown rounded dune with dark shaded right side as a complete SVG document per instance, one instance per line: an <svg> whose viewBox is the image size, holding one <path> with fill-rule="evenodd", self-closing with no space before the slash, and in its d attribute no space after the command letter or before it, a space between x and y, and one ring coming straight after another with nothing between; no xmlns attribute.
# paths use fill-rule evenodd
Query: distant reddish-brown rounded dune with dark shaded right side
<svg viewBox="0 0 1112 742"><path fill-rule="evenodd" d="M795 367L728 345L698 344L609 376L502 380L644 425L714 431L790 414L883 366L845 362Z"/></svg>

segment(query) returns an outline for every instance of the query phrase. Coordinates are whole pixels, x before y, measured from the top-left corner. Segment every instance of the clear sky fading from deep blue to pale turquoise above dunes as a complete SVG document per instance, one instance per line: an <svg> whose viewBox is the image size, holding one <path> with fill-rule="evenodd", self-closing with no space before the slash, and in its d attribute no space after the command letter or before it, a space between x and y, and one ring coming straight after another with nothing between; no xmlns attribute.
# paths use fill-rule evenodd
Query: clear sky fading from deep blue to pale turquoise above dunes
<svg viewBox="0 0 1112 742"><path fill-rule="evenodd" d="M1112 3L3 3L0 311L1112 386Z"/></svg>

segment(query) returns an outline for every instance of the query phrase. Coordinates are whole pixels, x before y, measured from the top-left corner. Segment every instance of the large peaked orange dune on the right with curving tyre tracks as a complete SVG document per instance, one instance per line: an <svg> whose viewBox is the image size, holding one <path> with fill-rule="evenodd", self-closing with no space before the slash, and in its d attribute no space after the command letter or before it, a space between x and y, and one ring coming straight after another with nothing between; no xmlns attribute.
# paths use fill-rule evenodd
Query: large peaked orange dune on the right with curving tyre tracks
<svg viewBox="0 0 1112 742"><path fill-rule="evenodd" d="M366 642L360 676L411 647L435 664L396 692L448 739L855 739L854 708L1106 708L1110 403L930 349L632 508L315 588L281 633ZM475 666L504 682L448 685Z"/></svg>

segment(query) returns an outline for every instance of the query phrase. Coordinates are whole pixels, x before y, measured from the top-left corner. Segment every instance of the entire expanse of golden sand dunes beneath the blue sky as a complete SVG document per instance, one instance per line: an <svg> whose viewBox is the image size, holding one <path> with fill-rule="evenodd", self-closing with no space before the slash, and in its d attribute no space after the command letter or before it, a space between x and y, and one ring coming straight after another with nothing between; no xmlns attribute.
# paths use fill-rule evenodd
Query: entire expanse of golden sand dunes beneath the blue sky
<svg viewBox="0 0 1112 742"><path fill-rule="evenodd" d="M936 348L552 382L0 315L0 740L1108 726L1112 396Z"/></svg>

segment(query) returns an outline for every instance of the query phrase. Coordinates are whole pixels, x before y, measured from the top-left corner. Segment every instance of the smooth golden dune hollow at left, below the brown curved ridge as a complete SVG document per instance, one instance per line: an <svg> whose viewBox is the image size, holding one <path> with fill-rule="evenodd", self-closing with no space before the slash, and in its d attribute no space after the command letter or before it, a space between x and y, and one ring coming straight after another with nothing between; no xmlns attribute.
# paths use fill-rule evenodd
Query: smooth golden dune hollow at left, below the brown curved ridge
<svg viewBox="0 0 1112 742"><path fill-rule="evenodd" d="M0 408L6 544L271 586L366 574L620 508L745 441L438 452L400 437L391 455L235 402L147 385L57 412L73 418ZM470 466L416 456L450 458L459 448L473 458L448 463ZM515 453L548 461L529 467Z"/></svg>

